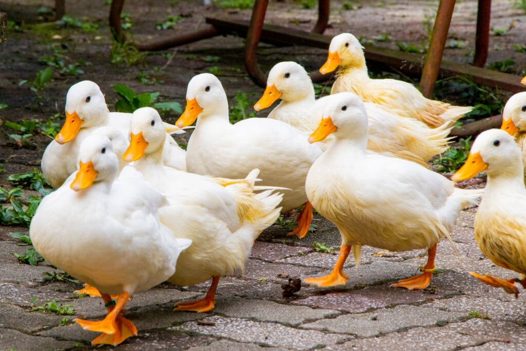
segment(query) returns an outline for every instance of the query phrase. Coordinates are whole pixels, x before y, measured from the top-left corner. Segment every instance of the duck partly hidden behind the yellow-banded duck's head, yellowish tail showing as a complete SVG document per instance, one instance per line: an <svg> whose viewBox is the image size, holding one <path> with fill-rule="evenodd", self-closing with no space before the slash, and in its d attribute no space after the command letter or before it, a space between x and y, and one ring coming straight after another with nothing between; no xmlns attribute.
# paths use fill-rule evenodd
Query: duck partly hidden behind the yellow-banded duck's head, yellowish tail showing
<svg viewBox="0 0 526 351"><path fill-rule="evenodd" d="M304 132L312 132L320 123L324 99L316 102L314 87L305 68L296 62L280 62L270 70L267 88L254 105L259 111L269 107L278 98L281 102L268 118L279 119ZM451 123L430 128L416 119L398 116L380 105L364 103L369 117L369 141L367 148L386 153L427 167L431 157L448 149ZM333 135L320 142L323 149L332 143Z"/></svg>

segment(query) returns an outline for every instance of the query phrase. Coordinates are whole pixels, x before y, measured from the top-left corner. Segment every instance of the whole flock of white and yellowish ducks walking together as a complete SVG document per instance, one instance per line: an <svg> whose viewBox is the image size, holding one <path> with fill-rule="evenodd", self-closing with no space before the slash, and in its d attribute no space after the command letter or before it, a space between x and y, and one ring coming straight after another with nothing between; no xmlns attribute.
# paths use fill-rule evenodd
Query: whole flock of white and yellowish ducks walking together
<svg viewBox="0 0 526 351"><path fill-rule="evenodd" d="M254 108L281 99L279 105L268 118L233 125L221 82L208 73L188 83L175 125L150 107L109 112L94 82L69 88L64 125L42 158L56 190L42 200L29 234L50 263L86 283L81 292L103 298L103 320L76 319L102 333L93 344L137 335L123 307L164 281L211 279L203 299L175 309L213 309L220 277L242 270L262 230L300 206L292 235L306 235L316 208L342 238L332 272L304 283L345 285L348 255L358 265L361 246L370 245L427 249L422 273L392 285L424 289L439 240L450 239L460 210L482 196L477 243L518 278L471 274L515 296L526 287L526 92L509 99L502 128L481 133L449 180L427 162L446 151L453 123L471 107L427 99L395 79L369 78L363 47L349 33L332 39L320 72L337 68L331 94L316 100L302 66L276 64ZM184 151L170 134L195 121ZM484 189L454 186L480 172L488 175Z"/></svg>

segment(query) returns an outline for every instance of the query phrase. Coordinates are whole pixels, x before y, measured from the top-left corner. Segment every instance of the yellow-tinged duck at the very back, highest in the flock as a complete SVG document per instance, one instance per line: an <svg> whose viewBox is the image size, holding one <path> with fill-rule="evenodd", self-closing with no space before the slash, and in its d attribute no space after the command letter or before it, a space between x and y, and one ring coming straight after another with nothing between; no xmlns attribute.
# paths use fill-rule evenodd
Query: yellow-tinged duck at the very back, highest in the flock
<svg viewBox="0 0 526 351"><path fill-rule="evenodd" d="M365 102L385 106L392 113L416 118L430 127L455 122L472 109L428 99L412 84L397 79L369 78L363 47L350 33L332 38L327 61L320 72L326 74L336 68L338 73L331 94L353 92Z"/></svg>

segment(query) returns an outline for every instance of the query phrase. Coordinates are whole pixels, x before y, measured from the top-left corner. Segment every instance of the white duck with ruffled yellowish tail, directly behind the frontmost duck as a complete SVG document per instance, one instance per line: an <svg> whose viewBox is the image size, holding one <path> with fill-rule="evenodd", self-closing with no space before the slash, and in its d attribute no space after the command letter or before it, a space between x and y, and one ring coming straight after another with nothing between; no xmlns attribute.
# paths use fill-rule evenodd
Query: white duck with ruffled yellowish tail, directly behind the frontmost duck
<svg viewBox="0 0 526 351"><path fill-rule="evenodd" d="M131 142L123 158L135 161L170 206L160 209L160 218L176 237L193 244L177 260L176 274L169 278L178 285L194 285L212 278L206 297L176 304L179 310L206 312L214 308L219 277L242 269L254 240L275 222L281 194L271 190L256 194L257 170L246 179L216 179L177 171L160 162L166 133L157 111L137 109L131 117Z"/></svg>

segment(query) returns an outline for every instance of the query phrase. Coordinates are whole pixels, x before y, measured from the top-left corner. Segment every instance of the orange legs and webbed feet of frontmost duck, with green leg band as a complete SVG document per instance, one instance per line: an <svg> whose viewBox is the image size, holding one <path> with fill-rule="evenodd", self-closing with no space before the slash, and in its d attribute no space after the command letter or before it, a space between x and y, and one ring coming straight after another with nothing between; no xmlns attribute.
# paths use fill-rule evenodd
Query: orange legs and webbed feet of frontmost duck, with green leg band
<svg viewBox="0 0 526 351"><path fill-rule="evenodd" d="M92 340L92 344L109 344L118 345L130 336L137 335L137 328L127 318L120 315L124 305L129 300L129 294L122 292L118 295L115 305L112 303L112 298L108 294L101 294L108 314L103 320L93 321L85 319L75 319L81 327L86 330L93 330L94 332L102 332L103 334Z"/></svg>

